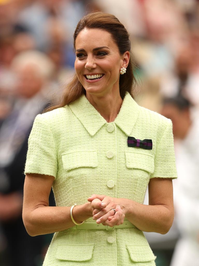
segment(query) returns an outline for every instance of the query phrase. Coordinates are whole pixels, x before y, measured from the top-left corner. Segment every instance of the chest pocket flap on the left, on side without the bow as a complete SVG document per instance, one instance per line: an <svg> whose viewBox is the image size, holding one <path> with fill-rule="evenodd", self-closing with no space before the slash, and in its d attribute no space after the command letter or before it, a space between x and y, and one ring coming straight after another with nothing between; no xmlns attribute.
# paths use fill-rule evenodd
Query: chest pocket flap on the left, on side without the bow
<svg viewBox="0 0 199 266"><path fill-rule="evenodd" d="M97 151L73 151L62 154L63 168L71 170L78 167L96 167L98 165Z"/></svg>

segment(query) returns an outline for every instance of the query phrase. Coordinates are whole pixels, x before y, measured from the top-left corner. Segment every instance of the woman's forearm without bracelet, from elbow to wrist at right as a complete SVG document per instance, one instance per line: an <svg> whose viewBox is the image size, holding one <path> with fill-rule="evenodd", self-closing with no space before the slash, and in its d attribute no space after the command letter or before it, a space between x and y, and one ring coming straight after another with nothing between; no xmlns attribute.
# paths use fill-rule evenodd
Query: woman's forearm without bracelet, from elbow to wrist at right
<svg viewBox="0 0 199 266"><path fill-rule="evenodd" d="M121 199L121 205L125 206L128 221L141 231L166 234L172 225L174 213L164 205L144 205L128 199Z"/></svg>

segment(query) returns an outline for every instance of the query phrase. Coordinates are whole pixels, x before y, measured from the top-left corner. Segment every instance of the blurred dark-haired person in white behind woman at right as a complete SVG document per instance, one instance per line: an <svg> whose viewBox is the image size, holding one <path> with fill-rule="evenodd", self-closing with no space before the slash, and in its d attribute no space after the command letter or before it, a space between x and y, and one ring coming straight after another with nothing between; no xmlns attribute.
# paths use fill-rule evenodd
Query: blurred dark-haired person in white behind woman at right
<svg viewBox="0 0 199 266"><path fill-rule="evenodd" d="M178 180L175 222L180 231L171 266L199 265L199 120L193 104L179 94L165 98L161 114L173 123Z"/></svg>

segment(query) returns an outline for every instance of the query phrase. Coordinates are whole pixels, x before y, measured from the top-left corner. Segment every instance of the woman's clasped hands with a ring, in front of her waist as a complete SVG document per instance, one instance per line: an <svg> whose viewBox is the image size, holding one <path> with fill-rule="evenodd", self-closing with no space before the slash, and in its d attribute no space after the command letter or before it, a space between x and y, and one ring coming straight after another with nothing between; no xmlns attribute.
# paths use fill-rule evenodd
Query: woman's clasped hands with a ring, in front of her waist
<svg viewBox="0 0 199 266"><path fill-rule="evenodd" d="M121 199L93 194L87 200L93 210L93 220L96 220L98 224L102 223L102 225L110 227L123 224L125 207L119 205ZM116 212L114 213L112 209L115 209Z"/></svg>

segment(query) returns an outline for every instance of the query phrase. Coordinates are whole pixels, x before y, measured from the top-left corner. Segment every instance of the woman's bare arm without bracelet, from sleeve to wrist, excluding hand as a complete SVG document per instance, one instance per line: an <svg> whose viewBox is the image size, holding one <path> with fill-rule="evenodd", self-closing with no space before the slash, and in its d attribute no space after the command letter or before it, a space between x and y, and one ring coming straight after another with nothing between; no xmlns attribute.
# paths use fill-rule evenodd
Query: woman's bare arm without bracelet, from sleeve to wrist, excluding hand
<svg viewBox="0 0 199 266"><path fill-rule="evenodd" d="M174 219L173 185L170 178L152 178L149 182L149 205L128 204L126 218L145 232L166 234Z"/></svg>

